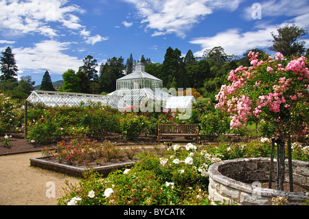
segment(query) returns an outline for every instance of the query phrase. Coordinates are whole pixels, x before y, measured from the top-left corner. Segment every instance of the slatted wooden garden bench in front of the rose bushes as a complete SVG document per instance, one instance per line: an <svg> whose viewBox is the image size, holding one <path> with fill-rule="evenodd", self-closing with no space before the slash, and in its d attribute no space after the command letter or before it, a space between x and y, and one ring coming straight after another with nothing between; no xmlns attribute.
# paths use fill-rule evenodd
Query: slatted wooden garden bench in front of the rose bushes
<svg viewBox="0 0 309 219"><path fill-rule="evenodd" d="M158 143L160 143L160 137L163 136L196 137L196 143L198 143L198 129L196 128L196 124L159 124Z"/></svg>

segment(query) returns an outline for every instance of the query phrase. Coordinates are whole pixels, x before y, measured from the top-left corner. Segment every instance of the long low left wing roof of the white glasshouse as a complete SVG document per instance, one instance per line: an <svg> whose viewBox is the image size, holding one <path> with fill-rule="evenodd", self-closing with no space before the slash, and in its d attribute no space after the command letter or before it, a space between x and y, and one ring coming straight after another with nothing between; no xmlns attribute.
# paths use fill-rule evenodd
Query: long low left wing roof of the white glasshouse
<svg viewBox="0 0 309 219"><path fill-rule="evenodd" d="M100 102L112 108L126 108L128 104L122 97L111 95L95 95L87 93L69 93L56 91L32 91L27 98L28 102L41 103L45 106L80 106L82 103Z"/></svg>

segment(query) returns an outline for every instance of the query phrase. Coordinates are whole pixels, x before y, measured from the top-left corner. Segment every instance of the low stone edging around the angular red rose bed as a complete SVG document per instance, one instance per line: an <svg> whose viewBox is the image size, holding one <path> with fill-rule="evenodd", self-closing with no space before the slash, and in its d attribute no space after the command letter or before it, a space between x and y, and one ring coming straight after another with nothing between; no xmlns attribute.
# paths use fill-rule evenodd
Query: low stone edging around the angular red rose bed
<svg viewBox="0 0 309 219"><path fill-rule="evenodd" d="M54 163L52 161L47 160L48 157L38 157L38 158L31 158L30 159L30 165L38 167L38 168L44 168L47 170L53 170L55 172L61 172L64 174L67 174L69 176L78 176L83 177L83 173L89 170L89 168L78 168L74 167L72 165L66 165L63 163ZM110 172L113 172L114 170L122 170L124 168L130 168L134 165L133 162L127 162L127 163L116 163L112 165L103 165L99 167L92 168L93 172L98 172L100 174L107 175Z"/></svg>

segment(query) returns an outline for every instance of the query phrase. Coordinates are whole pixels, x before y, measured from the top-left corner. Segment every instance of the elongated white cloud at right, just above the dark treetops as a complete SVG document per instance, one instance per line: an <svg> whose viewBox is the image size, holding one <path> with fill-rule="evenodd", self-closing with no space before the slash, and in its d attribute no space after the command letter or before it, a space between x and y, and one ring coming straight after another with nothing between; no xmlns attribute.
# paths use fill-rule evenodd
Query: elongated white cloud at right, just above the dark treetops
<svg viewBox="0 0 309 219"><path fill-rule="evenodd" d="M270 47L273 41L271 32L276 30L277 26L244 33L241 33L239 29L229 29L215 36L194 38L190 43L201 45L202 49L194 54L196 57L203 56L205 49L217 46L223 47L228 55L241 56L248 49Z"/></svg>

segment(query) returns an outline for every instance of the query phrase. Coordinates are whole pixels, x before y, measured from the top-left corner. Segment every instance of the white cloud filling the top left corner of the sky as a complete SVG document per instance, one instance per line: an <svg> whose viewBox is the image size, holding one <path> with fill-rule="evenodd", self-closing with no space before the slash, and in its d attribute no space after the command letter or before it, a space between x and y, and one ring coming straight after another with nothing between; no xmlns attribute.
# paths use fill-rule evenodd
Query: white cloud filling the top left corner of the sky
<svg viewBox="0 0 309 219"><path fill-rule="evenodd" d="M0 30L10 34L38 33L53 38L58 30L52 25L60 23L63 27L76 30L80 20L74 12L83 13L77 5L65 6L66 0L2 0L0 1Z"/></svg>

